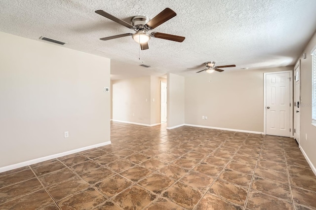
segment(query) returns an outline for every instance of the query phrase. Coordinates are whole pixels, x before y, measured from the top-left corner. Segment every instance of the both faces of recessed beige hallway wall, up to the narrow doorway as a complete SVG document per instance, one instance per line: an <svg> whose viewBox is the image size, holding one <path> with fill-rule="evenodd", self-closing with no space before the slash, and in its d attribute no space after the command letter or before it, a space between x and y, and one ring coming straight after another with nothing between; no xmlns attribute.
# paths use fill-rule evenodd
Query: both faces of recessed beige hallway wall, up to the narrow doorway
<svg viewBox="0 0 316 210"><path fill-rule="evenodd" d="M160 80L165 79L143 76L111 81L113 120L147 126L159 124Z"/></svg>

